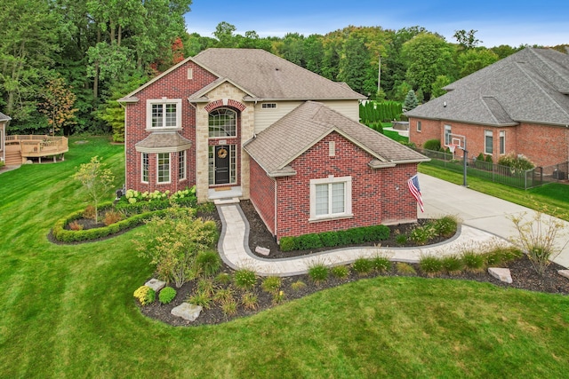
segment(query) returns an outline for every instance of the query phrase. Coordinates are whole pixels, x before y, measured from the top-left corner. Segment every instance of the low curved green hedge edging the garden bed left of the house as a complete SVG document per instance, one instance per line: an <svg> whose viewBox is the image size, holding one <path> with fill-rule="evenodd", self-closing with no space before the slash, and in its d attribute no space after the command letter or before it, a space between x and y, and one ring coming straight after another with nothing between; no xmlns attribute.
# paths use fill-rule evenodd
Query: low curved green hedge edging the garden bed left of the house
<svg viewBox="0 0 569 379"><path fill-rule="evenodd" d="M108 204L101 205L110 208ZM167 209L157 209L148 211L145 213L140 213L133 215L131 217L125 218L115 224L108 226L102 226L98 228L86 229L86 230L68 230L65 226L70 222L83 217L83 210L77 211L70 214L68 217L61 218L52 229L53 238L60 242L78 242L78 241L92 241L98 238L107 237L109 235L123 232L124 230L130 229L134 226L142 225L144 222L154 216L164 216ZM196 212L196 209L188 209L188 211Z"/></svg>

